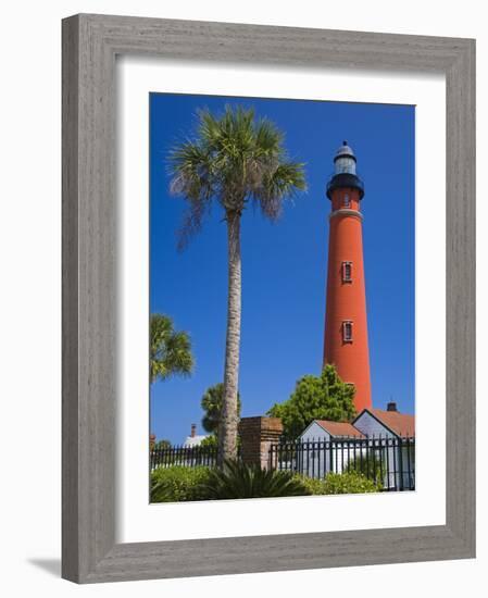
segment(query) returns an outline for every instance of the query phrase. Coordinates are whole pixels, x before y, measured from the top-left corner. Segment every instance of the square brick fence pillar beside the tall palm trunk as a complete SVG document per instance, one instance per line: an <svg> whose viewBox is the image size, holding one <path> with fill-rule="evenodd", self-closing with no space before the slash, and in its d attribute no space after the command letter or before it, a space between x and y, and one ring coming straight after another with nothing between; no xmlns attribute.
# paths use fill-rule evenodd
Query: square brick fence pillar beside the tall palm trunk
<svg viewBox="0 0 488 598"><path fill-rule="evenodd" d="M263 470L270 466L275 469L276 462L271 462L270 449L273 444L279 441L281 434L280 418L242 418L239 422L242 462L248 465L259 465ZM274 457L276 461L277 452Z"/></svg>

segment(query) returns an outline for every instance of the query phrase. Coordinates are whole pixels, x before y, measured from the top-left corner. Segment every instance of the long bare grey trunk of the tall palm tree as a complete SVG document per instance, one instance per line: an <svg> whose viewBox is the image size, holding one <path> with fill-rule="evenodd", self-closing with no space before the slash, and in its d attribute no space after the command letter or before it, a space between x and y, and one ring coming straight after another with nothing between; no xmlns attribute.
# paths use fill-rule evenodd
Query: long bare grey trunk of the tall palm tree
<svg viewBox="0 0 488 598"><path fill-rule="evenodd" d="M239 383L240 349L240 213L227 212L228 242L228 297L227 297L227 336L225 344L224 401L218 429L218 465L225 459L237 457L237 389Z"/></svg>

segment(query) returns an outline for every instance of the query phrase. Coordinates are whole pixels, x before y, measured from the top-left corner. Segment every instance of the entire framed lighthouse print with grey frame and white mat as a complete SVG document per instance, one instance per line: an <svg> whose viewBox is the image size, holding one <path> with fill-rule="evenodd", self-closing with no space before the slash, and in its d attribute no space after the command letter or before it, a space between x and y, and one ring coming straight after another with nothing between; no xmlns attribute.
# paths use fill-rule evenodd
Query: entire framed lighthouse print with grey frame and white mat
<svg viewBox="0 0 488 598"><path fill-rule="evenodd" d="M474 41L63 22L63 576L475 553Z"/></svg>

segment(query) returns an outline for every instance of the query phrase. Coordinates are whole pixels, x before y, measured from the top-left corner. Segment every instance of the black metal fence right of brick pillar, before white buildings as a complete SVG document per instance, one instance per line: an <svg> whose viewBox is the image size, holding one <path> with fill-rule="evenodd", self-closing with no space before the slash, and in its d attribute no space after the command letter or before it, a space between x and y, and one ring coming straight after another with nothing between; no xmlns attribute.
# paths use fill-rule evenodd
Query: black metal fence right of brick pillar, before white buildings
<svg viewBox="0 0 488 598"><path fill-rule="evenodd" d="M398 437L280 441L271 445L268 466L314 478L356 471L384 490L415 489L415 439Z"/></svg>

